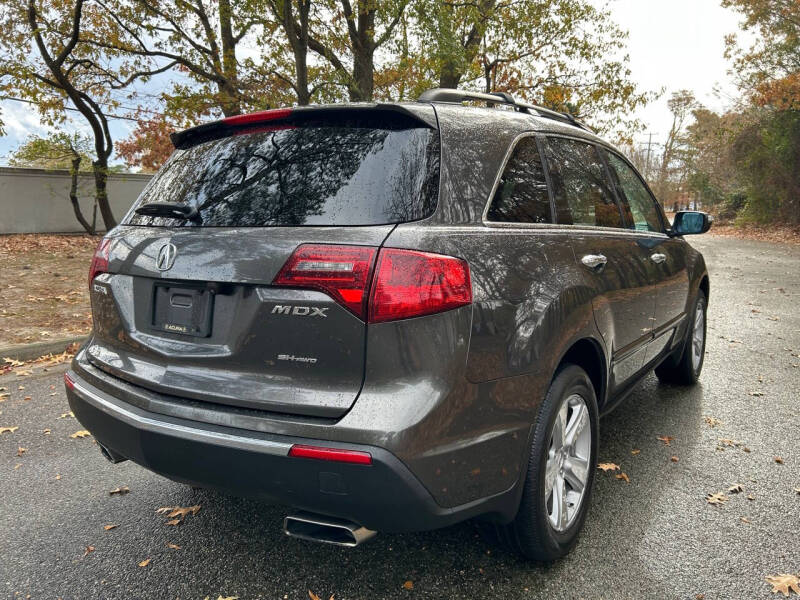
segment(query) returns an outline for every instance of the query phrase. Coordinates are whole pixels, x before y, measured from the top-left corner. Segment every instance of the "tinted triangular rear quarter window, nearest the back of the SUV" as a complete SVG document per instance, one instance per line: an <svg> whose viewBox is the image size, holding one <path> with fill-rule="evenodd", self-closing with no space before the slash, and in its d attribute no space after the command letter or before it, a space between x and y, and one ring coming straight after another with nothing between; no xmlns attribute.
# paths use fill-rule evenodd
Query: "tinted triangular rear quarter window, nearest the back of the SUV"
<svg viewBox="0 0 800 600"><path fill-rule="evenodd" d="M508 161L487 217L490 221L552 223L547 180L536 139L519 141Z"/></svg>

